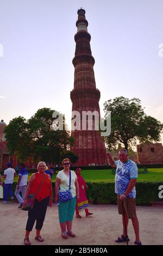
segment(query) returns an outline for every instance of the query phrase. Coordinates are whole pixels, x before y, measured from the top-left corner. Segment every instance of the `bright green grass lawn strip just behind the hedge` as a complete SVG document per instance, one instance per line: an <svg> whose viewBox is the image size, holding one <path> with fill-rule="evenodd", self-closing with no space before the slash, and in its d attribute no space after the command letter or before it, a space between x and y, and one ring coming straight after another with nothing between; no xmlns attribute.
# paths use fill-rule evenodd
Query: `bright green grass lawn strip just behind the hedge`
<svg viewBox="0 0 163 256"><path fill-rule="evenodd" d="M29 174L28 179L31 174ZM56 175L53 175L52 181L55 181ZM108 170L82 170L82 176L86 181L90 180L114 180L115 175L111 174L111 169ZM14 179L17 181L18 176ZM148 169L147 174L140 173L138 174L137 181L143 180L154 180L154 181L163 181L163 168L156 168L156 169Z"/></svg>

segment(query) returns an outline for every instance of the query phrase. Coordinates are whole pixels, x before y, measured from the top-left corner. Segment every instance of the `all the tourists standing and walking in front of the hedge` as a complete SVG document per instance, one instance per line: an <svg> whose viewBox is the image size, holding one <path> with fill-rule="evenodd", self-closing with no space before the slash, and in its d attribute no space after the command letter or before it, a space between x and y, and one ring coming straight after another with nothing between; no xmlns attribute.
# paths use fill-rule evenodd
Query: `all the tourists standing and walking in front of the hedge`
<svg viewBox="0 0 163 256"><path fill-rule="evenodd" d="M115 242L129 241L127 227L129 218L131 218L136 237L134 243L135 245L141 245L139 221L137 220L135 208L137 166L133 161L128 159L125 149L119 151L120 160L118 161L112 160L109 153L107 156L110 165L116 167L115 193L117 193L118 213L122 215L123 223L123 234ZM24 245L30 245L29 234L33 229L35 221L35 239L39 242L43 241L40 231L45 220L47 206L52 206L53 202L52 173L50 165L47 167L45 162L39 162L37 172L30 176L27 186L28 170L23 163L20 165L21 169L18 173L18 182L15 190L15 195L20 203L19 208L26 208L29 195L35 196L33 209L28 211L26 235L24 237ZM64 168L58 172L55 181L55 203L58 205L61 236L63 239L67 239L68 236L76 237L72 231L74 211L76 210L77 218L82 218L79 212L83 209L85 210L86 217L92 215L92 213L87 209L89 204L85 191L88 187L81 175L82 170L80 168L77 168L76 172L70 170L71 161L67 158L62 161L62 166ZM47 172L47 169L49 172ZM11 199L14 198L11 188L15 175L15 170L8 163L8 168L4 171L4 203L8 203L8 192L10 193ZM0 177L0 182L2 182L2 177ZM20 196L20 192L22 192L22 196Z"/></svg>

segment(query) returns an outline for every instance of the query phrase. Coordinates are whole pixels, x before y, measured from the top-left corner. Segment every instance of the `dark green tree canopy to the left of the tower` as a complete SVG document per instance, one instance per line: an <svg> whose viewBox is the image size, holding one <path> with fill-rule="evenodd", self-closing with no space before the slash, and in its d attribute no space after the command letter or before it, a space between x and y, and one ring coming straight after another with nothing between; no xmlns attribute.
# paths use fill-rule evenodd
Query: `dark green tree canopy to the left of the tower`
<svg viewBox="0 0 163 256"><path fill-rule="evenodd" d="M29 120L23 117L12 119L5 127L10 154L15 154L21 161L32 156L35 160L60 163L61 154L70 149L73 138L70 131L53 130L53 112L50 108L41 108Z"/></svg>

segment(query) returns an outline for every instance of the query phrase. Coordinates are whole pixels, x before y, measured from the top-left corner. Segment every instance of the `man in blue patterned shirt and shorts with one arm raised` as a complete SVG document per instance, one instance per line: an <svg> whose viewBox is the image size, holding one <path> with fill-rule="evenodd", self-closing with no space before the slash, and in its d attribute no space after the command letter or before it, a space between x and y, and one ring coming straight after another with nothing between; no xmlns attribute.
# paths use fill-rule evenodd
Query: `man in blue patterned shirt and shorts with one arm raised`
<svg viewBox="0 0 163 256"><path fill-rule="evenodd" d="M115 193L117 194L118 213L122 215L123 234L118 237L116 242L129 241L127 235L127 227L129 218L131 219L135 231L135 245L141 245L139 237L139 221L136 216L135 184L137 180L136 163L129 160L126 149L121 149L118 152L119 159L114 161L111 155L107 153L111 167L116 168L115 175Z"/></svg>

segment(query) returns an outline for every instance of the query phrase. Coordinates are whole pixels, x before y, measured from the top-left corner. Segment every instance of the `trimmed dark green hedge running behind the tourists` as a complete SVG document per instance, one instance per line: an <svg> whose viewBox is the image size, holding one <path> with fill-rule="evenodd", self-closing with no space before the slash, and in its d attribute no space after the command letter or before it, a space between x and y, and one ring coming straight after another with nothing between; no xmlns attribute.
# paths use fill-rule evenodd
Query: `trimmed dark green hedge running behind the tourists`
<svg viewBox="0 0 163 256"><path fill-rule="evenodd" d="M114 181L112 180L96 180L86 182L89 190L86 190L87 199L93 200L93 204L116 204L117 196L114 192ZM15 191L17 183L13 184ZM136 183L136 205L151 205L152 202L162 201L159 199L159 186L163 182L158 181L138 181ZM54 198L55 182L52 182L53 198Z"/></svg>

